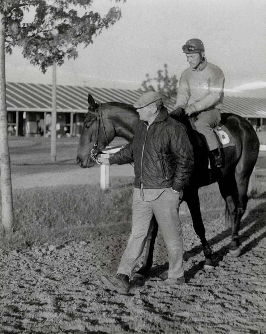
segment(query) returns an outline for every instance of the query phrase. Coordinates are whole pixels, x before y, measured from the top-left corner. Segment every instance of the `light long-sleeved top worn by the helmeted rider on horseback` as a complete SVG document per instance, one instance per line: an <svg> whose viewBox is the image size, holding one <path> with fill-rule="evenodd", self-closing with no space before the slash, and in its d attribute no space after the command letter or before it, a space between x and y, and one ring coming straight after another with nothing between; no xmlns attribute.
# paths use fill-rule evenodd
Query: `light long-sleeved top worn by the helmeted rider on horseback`
<svg viewBox="0 0 266 334"><path fill-rule="evenodd" d="M175 108L193 105L195 111L223 109L225 77L222 70L205 59L197 69L185 69L180 76Z"/></svg>

